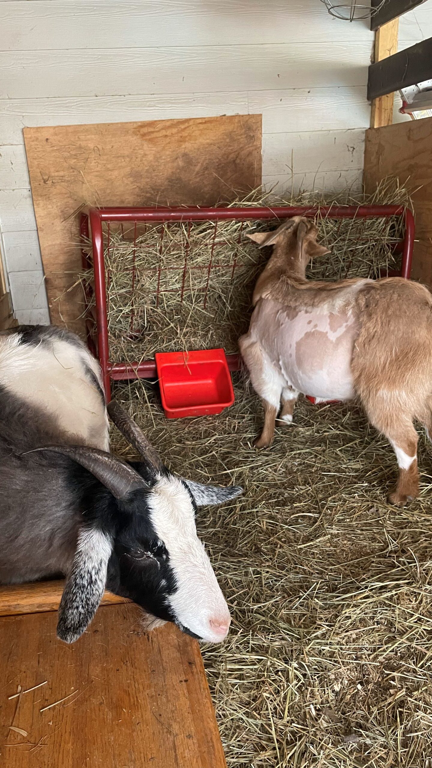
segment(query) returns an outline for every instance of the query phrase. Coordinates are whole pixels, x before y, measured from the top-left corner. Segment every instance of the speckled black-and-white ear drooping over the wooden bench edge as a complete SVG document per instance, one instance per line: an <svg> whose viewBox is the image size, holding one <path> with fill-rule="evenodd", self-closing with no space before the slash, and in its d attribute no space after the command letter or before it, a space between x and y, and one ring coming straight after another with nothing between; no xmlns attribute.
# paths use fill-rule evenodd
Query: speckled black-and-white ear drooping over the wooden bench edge
<svg viewBox="0 0 432 768"><path fill-rule="evenodd" d="M57 637L75 643L98 610L105 591L112 539L97 528L82 528L71 572L58 608Z"/></svg>

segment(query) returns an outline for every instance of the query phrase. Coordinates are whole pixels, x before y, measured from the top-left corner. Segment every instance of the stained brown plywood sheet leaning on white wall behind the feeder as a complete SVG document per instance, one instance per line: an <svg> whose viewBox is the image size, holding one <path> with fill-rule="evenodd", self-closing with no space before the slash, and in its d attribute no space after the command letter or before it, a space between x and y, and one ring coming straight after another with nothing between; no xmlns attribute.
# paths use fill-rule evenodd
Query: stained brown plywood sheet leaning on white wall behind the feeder
<svg viewBox="0 0 432 768"><path fill-rule="evenodd" d="M83 333L82 207L214 205L261 184L261 115L25 128L52 323Z"/></svg>

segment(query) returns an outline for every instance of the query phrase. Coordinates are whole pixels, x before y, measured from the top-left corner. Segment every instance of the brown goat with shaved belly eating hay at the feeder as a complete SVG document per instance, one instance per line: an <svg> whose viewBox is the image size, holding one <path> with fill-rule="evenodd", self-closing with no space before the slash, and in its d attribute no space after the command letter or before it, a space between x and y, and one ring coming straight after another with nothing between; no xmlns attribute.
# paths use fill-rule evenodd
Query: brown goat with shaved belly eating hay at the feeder
<svg viewBox="0 0 432 768"><path fill-rule="evenodd" d="M425 286L382 280L305 279L318 245L311 221L294 217L271 233L248 237L273 253L254 290L241 355L264 405L257 448L271 445L274 423L291 423L299 393L317 400L358 399L394 448L404 505L418 495L417 419L432 438L432 295Z"/></svg>

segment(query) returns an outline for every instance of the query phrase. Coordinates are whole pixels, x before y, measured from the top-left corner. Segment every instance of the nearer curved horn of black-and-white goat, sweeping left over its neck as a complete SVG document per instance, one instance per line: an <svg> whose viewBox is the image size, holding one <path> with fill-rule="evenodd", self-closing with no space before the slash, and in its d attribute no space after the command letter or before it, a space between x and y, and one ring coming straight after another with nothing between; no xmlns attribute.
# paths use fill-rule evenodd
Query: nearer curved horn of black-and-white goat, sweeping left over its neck
<svg viewBox="0 0 432 768"><path fill-rule="evenodd" d="M137 488L149 488L141 475L138 475L138 472L135 472L135 469L123 462L121 458L99 451L97 448L87 448L85 445L44 445L28 453L35 451L54 451L73 458L75 462L95 475L95 478L103 483L115 498L125 498Z"/></svg>

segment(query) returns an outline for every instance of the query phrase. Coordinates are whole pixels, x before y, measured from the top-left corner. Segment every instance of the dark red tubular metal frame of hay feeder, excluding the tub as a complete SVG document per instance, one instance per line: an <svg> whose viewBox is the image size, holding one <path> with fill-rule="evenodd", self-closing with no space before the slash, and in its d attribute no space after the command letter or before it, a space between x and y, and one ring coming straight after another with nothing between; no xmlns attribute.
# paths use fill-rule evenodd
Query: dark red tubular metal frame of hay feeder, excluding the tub
<svg viewBox="0 0 432 768"><path fill-rule="evenodd" d="M123 381L126 379L155 379L157 378L157 369L155 359L141 360L141 362L116 362L110 360L109 335L108 335L108 313L107 313L107 285L105 277L105 257L104 257L104 231L103 223L107 224L106 248L110 247L110 223L127 223L135 227L133 247L136 246L136 227L138 223L169 223L181 222L192 223L198 221L214 221L214 237L210 250L210 258L207 270L207 286L204 291L204 302L207 297L207 290L210 280L211 270L214 268L212 263L214 243L216 242L216 233L219 221L251 221L251 220L277 220L290 218L293 216L305 216L309 218L328 217L332 219L347 218L388 218L403 217L405 232L403 240L395 244L395 253L402 253L402 262L400 273L390 272L390 275L400 275L405 279L410 278L411 262L414 246L414 217L409 208L401 205L343 205L343 206L274 206L274 207L164 207L164 208L128 208L128 207L104 207L90 208L87 213L81 214L80 231L83 243L91 239L91 250L93 258L93 270L95 281L95 324L96 339L87 323L88 345L98 356L101 363L102 376L107 402L111 399L111 381ZM162 235L163 237L163 235ZM188 260L188 248L185 249L184 263L179 265L179 269L184 270L186 274ZM83 266L86 270L91 268L88 260L88 253L83 247L82 250ZM155 265L155 269L158 266ZM232 266L228 266L232 270ZM232 279L232 277L231 277ZM89 293L86 290L86 303L89 303ZM158 302L158 291L156 301ZM88 314L88 306L86 314ZM158 350L155 350L155 353ZM239 354L227 355L227 362L230 371L236 371L241 368L241 359Z"/></svg>

